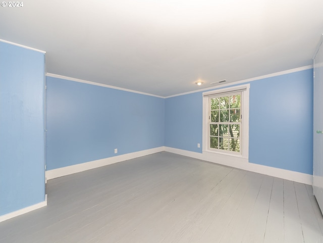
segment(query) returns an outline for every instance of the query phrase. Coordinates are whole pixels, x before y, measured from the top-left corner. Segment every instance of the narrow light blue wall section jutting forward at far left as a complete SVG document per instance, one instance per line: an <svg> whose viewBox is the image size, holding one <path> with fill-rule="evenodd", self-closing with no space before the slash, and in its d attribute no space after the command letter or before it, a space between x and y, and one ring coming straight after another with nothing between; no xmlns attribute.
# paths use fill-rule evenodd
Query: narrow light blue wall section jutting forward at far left
<svg viewBox="0 0 323 243"><path fill-rule="evenodd" d="M44 54L0 42L0 215L44 201Z"/></svg>

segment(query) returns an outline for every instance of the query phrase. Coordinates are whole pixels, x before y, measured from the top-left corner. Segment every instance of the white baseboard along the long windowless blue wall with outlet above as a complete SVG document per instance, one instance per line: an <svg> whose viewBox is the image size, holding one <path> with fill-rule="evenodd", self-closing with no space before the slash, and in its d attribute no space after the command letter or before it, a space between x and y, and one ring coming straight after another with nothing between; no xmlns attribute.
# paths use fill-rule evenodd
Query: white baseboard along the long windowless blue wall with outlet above
<svg viewBox="0 0 323 243"><path fill-rule="evenodd" d="M154 149L142 150L142 151L129 153L129 154L125 154L125 155L119 155L119 156L114 156L114 157L110 157L110 158L94 160L94 161L90 161L90 162L86 162L86 163L82 163L82 164L76 164L76 165L66 166L66 167L62 167L62 168L58 168L58 169L47 170L45 172L45 176L46 176L47 180L50 180L53 178L57 178L57 177L65 176L65 175L70 175L70 174L98 168L98 167L105 166L105 165L111 165L114 163L118 163L118 162L122 162L122 161L126 161L126 160L131 160L131 159L135 159L138 157L151 155L151 154L155 154L155 153L163 152L163 151L165 151L165 147L158 147L158 148L154 148Z"/></svg>

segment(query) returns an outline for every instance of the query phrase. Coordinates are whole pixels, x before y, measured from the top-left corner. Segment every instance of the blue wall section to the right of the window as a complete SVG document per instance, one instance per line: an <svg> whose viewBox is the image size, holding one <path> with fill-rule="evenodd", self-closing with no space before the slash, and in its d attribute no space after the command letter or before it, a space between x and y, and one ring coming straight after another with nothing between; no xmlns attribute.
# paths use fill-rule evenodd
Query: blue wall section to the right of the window
<svg viewBox="0 0 323 243"><path fill-rule="evenodd" d="M313 69L251 82L249 112L249 162L313 174Z"/></svg>

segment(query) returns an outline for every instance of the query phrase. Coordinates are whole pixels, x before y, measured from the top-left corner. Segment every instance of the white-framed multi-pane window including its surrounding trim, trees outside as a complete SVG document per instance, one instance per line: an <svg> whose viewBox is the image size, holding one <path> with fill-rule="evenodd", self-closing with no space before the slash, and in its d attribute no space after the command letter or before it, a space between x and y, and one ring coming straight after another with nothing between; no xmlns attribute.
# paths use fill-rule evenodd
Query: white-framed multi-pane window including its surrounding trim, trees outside
<svg viewBox="0 0 323 243"><path fill-rule="evenodd" d="M249 84L203 93L203 152L248 157Z"/></svg>

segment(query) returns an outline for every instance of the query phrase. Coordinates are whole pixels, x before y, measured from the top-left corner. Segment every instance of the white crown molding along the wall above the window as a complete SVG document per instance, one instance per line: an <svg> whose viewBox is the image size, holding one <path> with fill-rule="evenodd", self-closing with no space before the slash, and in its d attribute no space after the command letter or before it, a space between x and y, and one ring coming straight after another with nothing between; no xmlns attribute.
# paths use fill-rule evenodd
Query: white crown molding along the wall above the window
<svg viewBox="0 0 323 243"><path fill-rule="evenodd" d="M231 83L226 83L226 84L221 84L221 85L217 85L217 86L213 86L213 87L201 88L201 89L197 89L197 90L193 90L193 91L189 91L189 92L185 92L185 93L173 94L173 95L170 95L170 96L165 96L164 98L167 99L167 98L172 98L172 97L185 95L185 94L190 94L190 93L196 93L196 92L201 92L201 91L206 91L206 90L211 90L211 89L223 88L223 87L236 85L236 84L240 84L240 83L247 83L247 82L252 82L252 81L260 80L260 79L264 79L264 78L280 76L280 75L284 75L284 74L288 74L288 73L295 73L295 72L299 72L299 71L303 71L303 70L307 70L307 69L311 69L311 68L313 68L313 65L308 65L308 66L304 66L304 67L300 67L300 68L289 69L289 70L286 70L286 71L267 74L267 75L263 75L263 76L259 76L259 77L248 78L248 79L235 81L235 82L231 82Z"/></svg>

